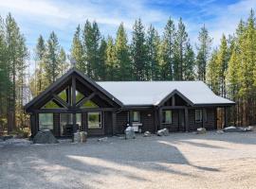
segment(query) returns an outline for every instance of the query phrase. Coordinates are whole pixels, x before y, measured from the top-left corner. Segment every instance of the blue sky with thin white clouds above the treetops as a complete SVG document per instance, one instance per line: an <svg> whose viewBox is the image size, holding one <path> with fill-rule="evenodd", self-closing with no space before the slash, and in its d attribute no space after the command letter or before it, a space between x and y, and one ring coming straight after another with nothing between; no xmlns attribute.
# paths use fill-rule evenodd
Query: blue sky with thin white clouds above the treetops
<svg viewBox="0 0 256 189"><path fill-rule="evenodd" d="M146 27L153 24L160 34L170 16L174 21L182 17L192 44L205 24L217 45L223 33L232 34L239 20L247 19L249 9L256 9L256 0L0 0L1 16L12 13L31 52L39 35L48 38L52 30L69 51L76 26L86 19L96 20L104 36L115 36L123 22L131 38L138 17Z"/></svg>

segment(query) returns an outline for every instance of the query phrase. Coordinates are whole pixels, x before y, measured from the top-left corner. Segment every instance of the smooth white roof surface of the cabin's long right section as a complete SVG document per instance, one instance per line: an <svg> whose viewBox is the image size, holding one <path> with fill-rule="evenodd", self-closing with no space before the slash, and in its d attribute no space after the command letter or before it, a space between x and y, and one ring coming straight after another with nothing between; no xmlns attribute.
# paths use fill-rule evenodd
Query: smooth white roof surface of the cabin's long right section
<svg viewBox="0 0 256 189"><path fill-rule="evenodd" d="M103 81L97 83L124 105L157 105L175 90L188 98L192 105L234 103L213 94L202 81Z"/></svg>

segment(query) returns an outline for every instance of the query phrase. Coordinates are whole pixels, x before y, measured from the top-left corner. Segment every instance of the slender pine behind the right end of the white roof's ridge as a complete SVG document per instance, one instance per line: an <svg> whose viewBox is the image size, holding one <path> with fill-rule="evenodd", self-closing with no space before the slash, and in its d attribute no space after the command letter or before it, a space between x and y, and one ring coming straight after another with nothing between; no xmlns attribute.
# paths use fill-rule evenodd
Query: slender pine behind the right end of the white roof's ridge
<svg viewBox="0 0 256 189"><path fill-rule="evenodd" d="M210 44L211 39L209 36L208 29L204 25L201 27L198 36L199 45L197 46L197 56L196 56L196 71L197 79L206 80L206 66L210 55Z"/></svg>

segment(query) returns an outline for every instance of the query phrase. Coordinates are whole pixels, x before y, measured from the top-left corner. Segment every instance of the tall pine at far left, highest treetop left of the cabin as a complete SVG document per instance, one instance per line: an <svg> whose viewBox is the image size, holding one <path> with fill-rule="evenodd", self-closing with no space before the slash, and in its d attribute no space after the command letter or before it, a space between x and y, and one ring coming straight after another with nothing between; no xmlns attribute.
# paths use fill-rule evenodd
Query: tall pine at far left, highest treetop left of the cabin
<svg viewBox="0 0 256 189"><path fill-rule="evenodd" d="M8 130L16 129L16 115L20 116L22 108L22 100L19 91L24 84L24 71L26 68L27 47L25 38L20 33L19 26L17 26L14 18L10 15L6 18L6 43L8 55L8 73L10 79L9 90L9 104L8 104ZM17 82L19 81L19 82ZM18 112L18 114L16 114Z"/></svg>

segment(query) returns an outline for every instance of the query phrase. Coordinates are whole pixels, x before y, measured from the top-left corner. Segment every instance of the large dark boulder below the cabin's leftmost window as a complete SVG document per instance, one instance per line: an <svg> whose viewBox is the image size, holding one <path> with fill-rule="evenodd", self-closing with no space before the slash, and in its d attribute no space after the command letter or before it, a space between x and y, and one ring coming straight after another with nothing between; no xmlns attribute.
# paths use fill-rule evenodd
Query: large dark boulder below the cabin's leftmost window
<svg viewBox="0 0 256 189"><path fill-rule="evenodd" d="M58 140L53 136L50 130L41 130L33 138L34 144L56 144Z"/></svg>

